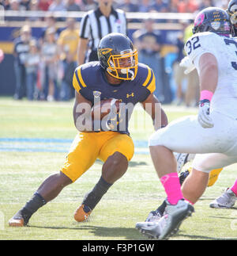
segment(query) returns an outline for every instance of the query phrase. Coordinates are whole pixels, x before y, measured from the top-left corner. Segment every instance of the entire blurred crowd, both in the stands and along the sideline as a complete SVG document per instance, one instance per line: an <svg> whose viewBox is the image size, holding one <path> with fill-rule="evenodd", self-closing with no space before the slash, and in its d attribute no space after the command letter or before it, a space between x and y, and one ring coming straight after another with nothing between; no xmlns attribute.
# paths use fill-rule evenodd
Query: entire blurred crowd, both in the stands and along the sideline
<svg viewBox="0 0 237 256"><path fill-rule="evenodd" d="M0 0L5 10L88 11L95 9L93 0ZM194 13L208 6L226 8L225 0L121 0L114 7L126 12ZM17 18L17 17L13 17ZM18 17L20 18L20 17ZM22 17L21 17L22 18ZM38 17L32 17L38 18ZM58 29L58 19L52 14L43 17L46 27L40 39L32 36L29 25L21 27L19 37L14 41L14 71L16 91L14 98L24 96L29 101L69 101L74 97L72 77L77 67L77 45L80 40L77 19L67 18L66 28ZM192 71L184 75L179 62L184 57L183 46L192 34L190 21L180 21L182 30L175 41L175 55L171 58L170 71L167 60L161 55L163 40L160 31L154 29L157 21L146 19L142 29L133 33L139 62L148 64L156 74L155 95L162 103L195 106L198 103L198 74ZM172 94L172 83L175 90Z"/></svg>

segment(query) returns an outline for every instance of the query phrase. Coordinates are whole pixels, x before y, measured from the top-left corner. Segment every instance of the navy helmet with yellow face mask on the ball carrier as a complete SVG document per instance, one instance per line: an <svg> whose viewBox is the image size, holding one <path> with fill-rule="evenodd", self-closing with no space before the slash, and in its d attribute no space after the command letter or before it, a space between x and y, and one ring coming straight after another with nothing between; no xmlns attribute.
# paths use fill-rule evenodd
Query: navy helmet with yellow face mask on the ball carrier
<svg viewBox="0 0 237 256"><path fill-rule="evenodd" d="M98 47L98 59L111 76L122 80L134 80L137 75L137 50L129 37L112 32L103 36Z"/></svg>

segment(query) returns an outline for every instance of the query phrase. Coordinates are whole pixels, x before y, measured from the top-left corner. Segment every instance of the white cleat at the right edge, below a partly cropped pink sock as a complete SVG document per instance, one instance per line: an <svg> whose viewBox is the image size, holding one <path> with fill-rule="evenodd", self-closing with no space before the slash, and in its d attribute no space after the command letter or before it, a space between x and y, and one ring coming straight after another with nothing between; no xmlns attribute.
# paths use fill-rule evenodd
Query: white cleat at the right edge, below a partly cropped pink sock
<svg viewBox="0 0 237 256"><path fill-rule="evenodd" d="M212 201L209 206L210 208L231 208L235 205L237 197L231 189L226 189L224 193Z"/></svg>

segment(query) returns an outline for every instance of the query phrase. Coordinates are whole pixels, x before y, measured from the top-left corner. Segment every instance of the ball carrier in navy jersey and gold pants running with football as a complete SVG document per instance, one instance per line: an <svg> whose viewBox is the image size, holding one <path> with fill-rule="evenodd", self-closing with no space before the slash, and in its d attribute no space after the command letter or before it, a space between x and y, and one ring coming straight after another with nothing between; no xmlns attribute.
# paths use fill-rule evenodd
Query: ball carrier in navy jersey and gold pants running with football
<svg viewBox="0 0 237 256"><path fill-rule="evenodd" d="M73 75L76 95L73 118L79 133L73 140L66 162L58 174L43 181L31 200L9 220L9 226L27 225L34 212L57 197L66 185L80 178L96 159L101 159L100 180L74 213L78 222L87 220L107 189L126 173L134 155L134 143L128 131L133 106L141 102L152 117L155 129L167 125L166 114L152 94L156 87L155 75L148 66L138 63L137 51L127 36L121 33L104 36L100 40L98 57L98 62L77 67ZM92 119L92 109L97 101L111 98L111 112L103 118L105 125L100 119ZM125 115L120 113L120 107L117 111L115 101L125 105L121 108L126 109ZM150 111L146 104L150 105ZM112 111L114 107L116 111ZM158 115L156 111L160 111ZM115 123L112 114L115 114Z"/></svg>

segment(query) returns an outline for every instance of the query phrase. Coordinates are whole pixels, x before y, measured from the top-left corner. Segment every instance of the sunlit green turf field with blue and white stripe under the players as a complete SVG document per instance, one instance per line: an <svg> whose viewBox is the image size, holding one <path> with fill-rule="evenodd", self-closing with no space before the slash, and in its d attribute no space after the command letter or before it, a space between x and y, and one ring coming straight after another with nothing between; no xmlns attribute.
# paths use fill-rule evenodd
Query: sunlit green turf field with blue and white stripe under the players
<svg viewBox="0 0 237 256"><path fill-rule="evenodd" d="M134 226L164 200L165 193L146 147L152 122L141 108L135 109L131 120L131 136L138 146L129 170L103 197L88 222L76 223L73 212L100 178L100 161L62 190L54 201L40 208L29 227L8 227L9 218L47 176L62 166L67 147L77 133L72 108L73 101L49 103L0 98L0 239L145 239ZM169 121L197 112L170 105L164 105L164 109ZM195 204L194 215L171 239L237 239L237 208L209 208L210 201L235 181L236 170L237 165L233 165L220 174L216 184Z"/></svg>

